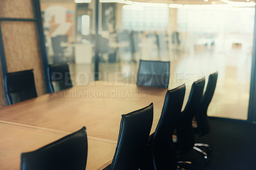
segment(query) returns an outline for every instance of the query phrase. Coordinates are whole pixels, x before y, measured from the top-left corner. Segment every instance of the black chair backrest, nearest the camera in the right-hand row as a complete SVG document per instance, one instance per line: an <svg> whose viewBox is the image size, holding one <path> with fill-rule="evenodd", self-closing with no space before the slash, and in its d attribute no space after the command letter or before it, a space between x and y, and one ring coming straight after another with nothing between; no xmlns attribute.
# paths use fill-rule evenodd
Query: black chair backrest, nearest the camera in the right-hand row
<svg viewBox="0 0 256 170"><path fill-rule="evenodd" d="M153 104L123 114L111 169L139 169L153 121Z"/></svg>

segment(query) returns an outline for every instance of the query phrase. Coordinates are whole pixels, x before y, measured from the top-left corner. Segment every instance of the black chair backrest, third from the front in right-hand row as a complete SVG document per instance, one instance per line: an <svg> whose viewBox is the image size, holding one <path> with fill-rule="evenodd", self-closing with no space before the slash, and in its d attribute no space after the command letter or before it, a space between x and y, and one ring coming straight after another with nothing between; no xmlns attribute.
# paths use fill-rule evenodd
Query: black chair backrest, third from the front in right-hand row
<svg viewBox="0 0 256 170"><path fill-rule="evenodd" d="M180 154L193 150L193 146L195 144L195 134L192 127L192 121L202 99L204 85L205 78L193 82L188 102L184 111L181 112L180 121L177 126L177 139Z"/></svg>

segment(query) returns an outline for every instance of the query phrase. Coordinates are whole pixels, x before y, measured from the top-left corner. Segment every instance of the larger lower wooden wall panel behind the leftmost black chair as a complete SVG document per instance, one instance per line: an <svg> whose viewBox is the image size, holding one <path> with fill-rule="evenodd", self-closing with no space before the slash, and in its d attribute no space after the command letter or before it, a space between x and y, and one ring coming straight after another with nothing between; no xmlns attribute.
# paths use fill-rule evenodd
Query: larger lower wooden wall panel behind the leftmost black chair
<svg viewBox="0 0 256 170"><path fill-rule="evenodd" d="M34 22L1 22L8 72L34 69L38 95L46 93L42 56Z"/></svg>

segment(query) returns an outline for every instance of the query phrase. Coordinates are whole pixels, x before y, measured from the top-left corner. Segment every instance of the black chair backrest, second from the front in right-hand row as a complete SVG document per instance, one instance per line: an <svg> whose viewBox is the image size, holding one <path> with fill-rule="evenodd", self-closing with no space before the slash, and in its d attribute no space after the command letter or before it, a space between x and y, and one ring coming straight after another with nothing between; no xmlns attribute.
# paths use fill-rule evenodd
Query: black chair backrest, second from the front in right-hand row
<svg viewBox="0 0 256 170"><path fill-rule="evenodd" d="M152 139L154 169L176 169L177 167L172 134L179 122L185 90L185 85L182 85L166 92L161 117Z"/></svg>

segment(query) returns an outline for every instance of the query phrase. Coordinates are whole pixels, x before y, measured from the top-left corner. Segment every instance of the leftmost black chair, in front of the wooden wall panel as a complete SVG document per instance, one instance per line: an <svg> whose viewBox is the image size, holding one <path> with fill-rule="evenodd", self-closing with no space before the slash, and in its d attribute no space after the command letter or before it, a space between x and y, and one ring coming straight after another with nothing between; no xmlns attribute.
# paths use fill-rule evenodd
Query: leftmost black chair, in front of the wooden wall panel
<svg viewBox="0 0 256 170"><path fill-rule="evenodd" d="M33 70L6 73L4 90L9 105L37 97Z"/></svg>

